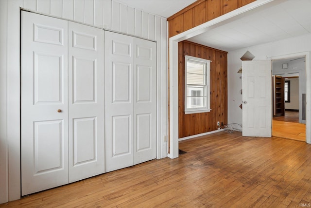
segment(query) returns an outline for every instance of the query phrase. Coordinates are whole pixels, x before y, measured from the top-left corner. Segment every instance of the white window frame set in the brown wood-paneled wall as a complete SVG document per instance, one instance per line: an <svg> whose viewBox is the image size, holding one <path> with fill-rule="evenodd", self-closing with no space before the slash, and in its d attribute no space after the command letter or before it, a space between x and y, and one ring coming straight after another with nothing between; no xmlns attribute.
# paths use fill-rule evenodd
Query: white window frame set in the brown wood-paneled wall
<svg viewBox="0 0 311 208"><path fill-rule="evenodd" d="M194 84L189 84L187 85L187 62L191 61L194 63L199 63L203 64L205 67L205 80L206 84L205 85L194 85ZM210 76L209 76L209 71L210 71L210 60L203 59L203 58L198 58L198 57L191 57L191 56L185 56L185 114L190 114L190 113L207 113L210 112ZM206 92L206 100L205 100L205 107L198 107L198 108L188 108L187 106L187 86L193 86L193 87L200 87L204 88L204 91Z"/></svg>

